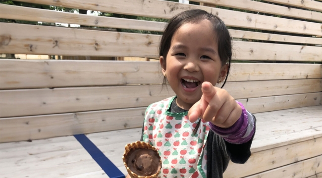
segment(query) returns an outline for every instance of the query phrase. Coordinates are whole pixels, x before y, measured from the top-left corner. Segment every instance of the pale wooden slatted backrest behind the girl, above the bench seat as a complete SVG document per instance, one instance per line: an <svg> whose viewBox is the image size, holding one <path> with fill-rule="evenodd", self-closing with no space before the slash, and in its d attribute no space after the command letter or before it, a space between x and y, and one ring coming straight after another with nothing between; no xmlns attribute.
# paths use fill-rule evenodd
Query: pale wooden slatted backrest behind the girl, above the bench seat
<svg viewBox="0 0 322 178"><path fill-rule="evenodd" d="M322 2L19 1L164 19L187 9L204 9L230 28L234 59L253 61L233 63L224 87L248 110L321 105ZM0 18L157 32L165 25L6 4L0 4ZM0 23L0 53L9 54L158 58L159 40L160 35L151 34ZM0 142L141 127L149 104L174 95L170 88L161 90L161 81L158 62L2 59Z"/></svg>

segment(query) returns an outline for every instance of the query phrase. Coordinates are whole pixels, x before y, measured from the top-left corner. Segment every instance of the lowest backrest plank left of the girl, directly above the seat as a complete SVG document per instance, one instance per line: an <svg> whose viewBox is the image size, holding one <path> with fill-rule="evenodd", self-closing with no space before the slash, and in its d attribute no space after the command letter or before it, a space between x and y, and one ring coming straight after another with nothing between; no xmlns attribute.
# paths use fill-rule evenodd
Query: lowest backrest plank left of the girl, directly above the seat
<svg viewBox="0 0 322 178"><path fill-rule="evenodd" d="M1 118L0 142L142 127L146 107ZM15 132L12 132L12 131ZM59 130L59 132L57 132Z"/></svg>

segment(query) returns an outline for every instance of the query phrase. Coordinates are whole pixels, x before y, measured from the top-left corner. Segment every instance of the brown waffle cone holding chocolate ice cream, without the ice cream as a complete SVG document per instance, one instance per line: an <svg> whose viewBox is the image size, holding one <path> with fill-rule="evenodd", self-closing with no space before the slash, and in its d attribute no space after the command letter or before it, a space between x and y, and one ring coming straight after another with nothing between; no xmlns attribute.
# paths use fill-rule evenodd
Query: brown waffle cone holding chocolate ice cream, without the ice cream
<svg viewBox="0 0 322 178"><path fill-rule="evenodd" d="M149 143L146 143L146 142L143 142L143 141L136 141L134 143L129 143L129 144L125 145L125 151L124 151L124 154L122 156L123 163L124 163L124 166L126 168L126 171L128 172L128 174L130 175L131 178L158 178L158 175L159 175L159 173L161 171L161 167L162 167L162 161L161 161L161 157L160 156L159 156L159 158L160 158L160 165L161 165L161 167L159 168L159 170L157 171L157 173L154 174L154 175L151 175L151 176L138 176L137 174L133 173L130 170L129 167L127 167L126 158L127 158L128 153L131 150L138 149L138 148L153 150L159 156L157 149L154 146L152 146L151 144L149 144Z"/></svg>

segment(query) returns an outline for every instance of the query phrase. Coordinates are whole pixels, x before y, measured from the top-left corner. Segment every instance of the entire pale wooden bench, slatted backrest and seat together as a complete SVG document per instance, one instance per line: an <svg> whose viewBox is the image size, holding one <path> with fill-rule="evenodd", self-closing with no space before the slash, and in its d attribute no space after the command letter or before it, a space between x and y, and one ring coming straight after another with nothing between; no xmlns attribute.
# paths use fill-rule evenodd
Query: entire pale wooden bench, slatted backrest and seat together
<svg viewBox="0 0 322 178"><path fill-rule="evenodd" d="M322 177L322 2L19 1L164 19L191 8L218 15L230 27L234 59L249 62L232 64L224 89L257 118L252 156L244 165L230 163L224 177ZM0 4L0 18L158 32L165 25L6 4ZM158 58L159 39L0 23L0 53L8 54ZM174 95L161 90L159 67L152 61L1 59L0 177L108 178L75 134L87 134L126 174L121 156L125 144L140 139L146 107Z"/></svg>

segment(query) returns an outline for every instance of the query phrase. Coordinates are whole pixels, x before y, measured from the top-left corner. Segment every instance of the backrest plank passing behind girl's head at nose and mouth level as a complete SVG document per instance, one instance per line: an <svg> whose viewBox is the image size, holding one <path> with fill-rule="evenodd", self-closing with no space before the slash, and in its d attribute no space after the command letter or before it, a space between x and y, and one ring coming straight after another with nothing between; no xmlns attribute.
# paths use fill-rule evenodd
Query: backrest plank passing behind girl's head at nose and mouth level
<svg viewBox="0 0 322 178"><path fill-rule="evenodd" d="M227 81L318 79L321 66L232 63ZM162 83L159 62L138 61L0 59L0 79L0 89Z"/></svg>

